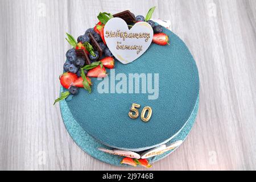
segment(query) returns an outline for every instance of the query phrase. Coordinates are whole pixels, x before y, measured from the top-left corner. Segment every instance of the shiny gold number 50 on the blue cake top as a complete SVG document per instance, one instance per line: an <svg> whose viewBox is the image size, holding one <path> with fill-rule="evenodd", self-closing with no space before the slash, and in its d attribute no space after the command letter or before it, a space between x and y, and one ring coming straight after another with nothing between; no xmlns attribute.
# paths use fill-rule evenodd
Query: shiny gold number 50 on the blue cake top
<svg viewBox="0 0 256 182"><path fill-rule="evenodd" d="M141 105L139 104L133 104L131 105L131 109L130 109L130 112L129 112L129 117L132 118L132 119L136 119L139 117L139 111L137 108L141 107ZM146 111L148 111L147 113L147 117L145 117L146 115ZM142 110L142 113L141 113L141 119L142 121L144 122L148 122L151 118L151 115L152 115L152 109L150 106L146 106L143 108Z"/></svg>

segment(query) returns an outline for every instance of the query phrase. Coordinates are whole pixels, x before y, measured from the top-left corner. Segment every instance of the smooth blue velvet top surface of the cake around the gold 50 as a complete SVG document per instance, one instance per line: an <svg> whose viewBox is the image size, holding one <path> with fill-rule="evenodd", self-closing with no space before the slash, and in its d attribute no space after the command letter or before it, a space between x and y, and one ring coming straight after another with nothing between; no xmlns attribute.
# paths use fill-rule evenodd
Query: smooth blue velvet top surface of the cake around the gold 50
<svg viewBox="0 0 256 182"><path fill-rule="evenodd" d="M199 96L196 63L178 36L166 29L164 32L169 36L170 46L151 44L133 63L115 61L115 75L125 73L129 78L129 73L152 73L154 80L154 73L158 73L158 99L148 100L148 93L101 94L97 90L101 81L94 78L91 94L80 89L67 102L81 128L106 146L133 151L158 146L174 137L191 116ZM150 121L128 116L133 103L141 105L140 113L144 106L152 108Z"/></svg>

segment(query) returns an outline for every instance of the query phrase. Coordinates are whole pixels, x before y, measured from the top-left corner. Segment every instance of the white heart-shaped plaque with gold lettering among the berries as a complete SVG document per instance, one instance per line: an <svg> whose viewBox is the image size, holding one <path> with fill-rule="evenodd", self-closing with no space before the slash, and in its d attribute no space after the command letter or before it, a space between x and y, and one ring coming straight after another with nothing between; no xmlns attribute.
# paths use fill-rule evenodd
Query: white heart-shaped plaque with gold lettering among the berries
<svg viewBox="0 0 256 182"><path fill-rule="evenodd" d="M104 27L104 38L109 50L123 64L138 59L150 46L153 29L147 22L138 22L129 30L125 20L112 18Z"/></svg>

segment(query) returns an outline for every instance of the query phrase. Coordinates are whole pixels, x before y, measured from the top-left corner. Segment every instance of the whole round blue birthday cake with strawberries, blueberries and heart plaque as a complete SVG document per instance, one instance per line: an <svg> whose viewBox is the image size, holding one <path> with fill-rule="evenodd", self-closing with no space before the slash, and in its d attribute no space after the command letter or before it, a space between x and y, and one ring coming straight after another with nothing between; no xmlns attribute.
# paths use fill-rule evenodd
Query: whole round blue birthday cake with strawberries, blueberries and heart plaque
<svg viewBox="0 0 256 182"><path fill-rule="evenodd" d="M129 10L100 13L77 39L67 34L59 77L61 115L89 155L151 167L183 143L199 105L195 60L173 32Z"/></svg>

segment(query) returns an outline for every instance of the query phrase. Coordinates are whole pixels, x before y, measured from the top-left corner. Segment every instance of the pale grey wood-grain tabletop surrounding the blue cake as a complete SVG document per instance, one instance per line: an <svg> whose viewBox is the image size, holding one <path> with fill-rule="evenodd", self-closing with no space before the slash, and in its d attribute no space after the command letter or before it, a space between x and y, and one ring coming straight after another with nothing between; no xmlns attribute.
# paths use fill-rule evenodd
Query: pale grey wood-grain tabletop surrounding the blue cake
<svg viewBox="0 0 256 182"><path fill-rule="evenodd" d="M200 110L183 145L152 170L256 169L256 1L0 1L0 169L127 170L73 142L62 122L58 76L74 36L100 11L170 19L195 57Z"/></svg>

